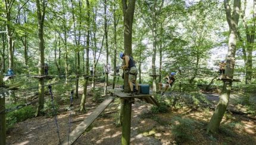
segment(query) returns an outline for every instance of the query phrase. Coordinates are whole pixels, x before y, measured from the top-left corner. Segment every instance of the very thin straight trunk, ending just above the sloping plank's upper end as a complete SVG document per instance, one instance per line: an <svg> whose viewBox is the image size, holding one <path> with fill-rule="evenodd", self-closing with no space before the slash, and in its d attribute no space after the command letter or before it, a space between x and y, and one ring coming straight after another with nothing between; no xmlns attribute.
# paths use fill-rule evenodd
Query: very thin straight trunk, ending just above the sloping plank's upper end
<svg viewBox="0 0 256 145"><path fill-rule="evenodd" d="M107 0L104 0L104 31L105 31L105 38L106 38L106 66L108 67L108 30L107 30ZM108 71L108 73L110 70ZM105 89L104 89L104 95L107 95L107 89L108 89L108 73L105 73Z"/></svg>

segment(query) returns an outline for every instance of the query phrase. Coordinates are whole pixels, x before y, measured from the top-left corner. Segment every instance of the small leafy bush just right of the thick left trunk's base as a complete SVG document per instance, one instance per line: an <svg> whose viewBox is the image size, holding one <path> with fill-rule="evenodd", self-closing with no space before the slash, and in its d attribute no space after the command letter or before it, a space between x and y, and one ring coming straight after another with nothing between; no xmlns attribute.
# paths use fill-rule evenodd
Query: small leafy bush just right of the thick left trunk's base
<svg viewBox="0 0 256 145"><path fill-rule="evenodd" d="M51 98L45 100L45 104L43 104L43 111L45 112L46 116L54 117L55 112L57 114L59 105L57 101L54 100L54 104L52 104Z"/></svg>

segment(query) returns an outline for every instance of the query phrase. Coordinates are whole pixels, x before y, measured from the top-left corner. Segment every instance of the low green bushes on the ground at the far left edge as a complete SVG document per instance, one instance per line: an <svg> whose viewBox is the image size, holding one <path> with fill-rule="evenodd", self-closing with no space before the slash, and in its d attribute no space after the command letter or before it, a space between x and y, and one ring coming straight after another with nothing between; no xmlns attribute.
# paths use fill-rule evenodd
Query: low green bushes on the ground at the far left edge
<svg viewBox="0 0 256 145"><path fill-rule="evenodd" d="M19 104L7 105L7 108L11 108L16 105L19 105ZM8 112L6 114L7 131L13 128L16 123L19 123L21 121L27 120L28 118L34 117L35 111L36 111L35 107L32 107L30 105L27 107L23 107L21 109L17 109L12 112Z"/></svg>

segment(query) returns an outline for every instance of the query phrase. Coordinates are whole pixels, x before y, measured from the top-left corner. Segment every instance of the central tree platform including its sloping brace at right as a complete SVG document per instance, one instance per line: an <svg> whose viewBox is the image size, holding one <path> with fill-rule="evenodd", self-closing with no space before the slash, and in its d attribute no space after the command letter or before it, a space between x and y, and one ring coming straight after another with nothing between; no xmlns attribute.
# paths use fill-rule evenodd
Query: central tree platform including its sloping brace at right
<svg viewBox="0 0 256 145"><path fill-rule="evenodd" d="M108 92L111 92L113 95L118 96L122 99L129 99L129 98L139 98L144 100L145 102L158 106L158 102L152 97L152 94L139 94L134 96L130 96L129 93L122 92L123 89L108 89Z"/></svg>

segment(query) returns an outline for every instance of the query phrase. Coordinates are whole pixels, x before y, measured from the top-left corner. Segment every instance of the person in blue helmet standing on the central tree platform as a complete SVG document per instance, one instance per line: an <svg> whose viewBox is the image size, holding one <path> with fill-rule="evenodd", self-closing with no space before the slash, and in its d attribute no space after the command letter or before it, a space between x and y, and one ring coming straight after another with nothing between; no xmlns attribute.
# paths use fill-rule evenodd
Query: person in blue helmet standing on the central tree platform
<svg viewBox="0 0 256 145"><path fill-rule="evenodd" d="M126 55L124 53L120 53L120 59L123 59L125 62L124 65L121 66L121 68L123 70L126 70L126 69L129 70L128 82L129 82L129 86L130 86L131 95L133 96L133 93L136 93L136 95L139 95L138 83L136 81L138 70L136 69L135 61L133 60L133 57ZM135 84L135 90L133 90L133 83Z"/></svg>

